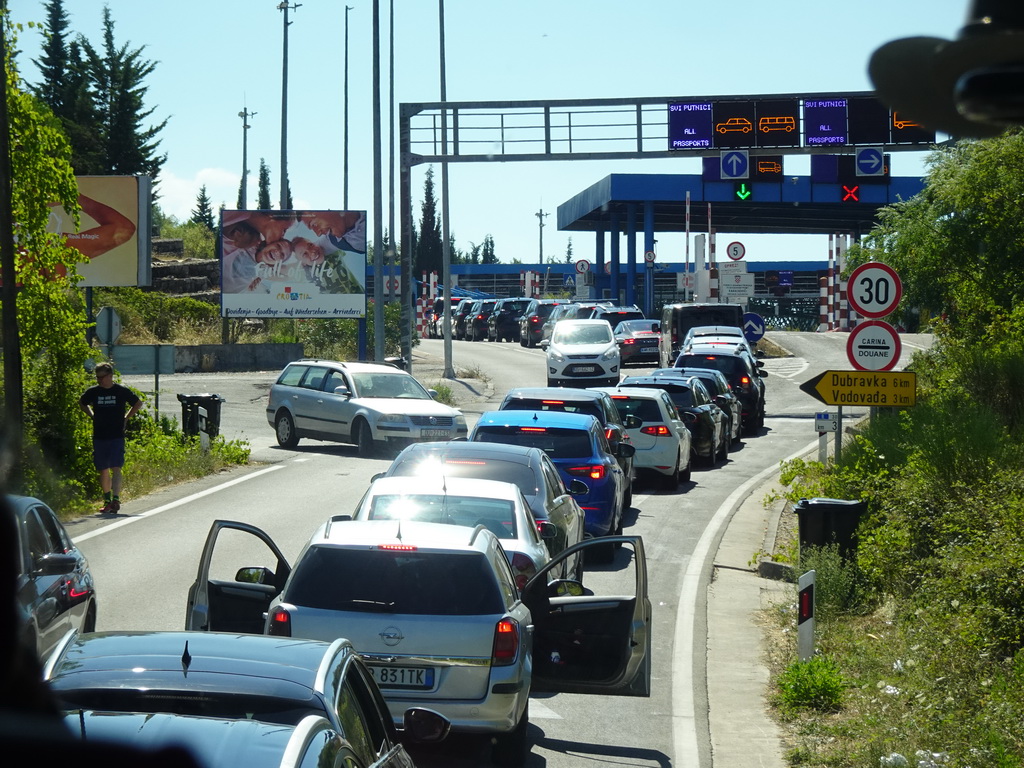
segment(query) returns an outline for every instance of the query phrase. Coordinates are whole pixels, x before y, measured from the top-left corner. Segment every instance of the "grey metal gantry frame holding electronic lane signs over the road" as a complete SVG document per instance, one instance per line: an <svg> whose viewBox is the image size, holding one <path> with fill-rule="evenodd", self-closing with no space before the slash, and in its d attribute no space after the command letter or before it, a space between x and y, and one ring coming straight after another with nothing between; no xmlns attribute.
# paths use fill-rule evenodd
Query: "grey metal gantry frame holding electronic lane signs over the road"
<svg viewBox="0 0 1024 768"><path fill-rule="evenodd" d="M669 104L676 101L758 101L873 97L873 91L770 95L673 96L524 101L424 101L399 104L399 216L401 229L401 354L412 360L412 169L424 163L511 163L719 157L717 148L670 150ZM802 129L803 127L801 127ZM801 133L803 135L803 133ZM885 152L922 152L921 143L882 145ZM744 147L746 148L746 147ZM836 146L749 147L764 155L837 155ZM445 357L450 346L445 345ZM451 360L445 359L445 370Z"/></svg>

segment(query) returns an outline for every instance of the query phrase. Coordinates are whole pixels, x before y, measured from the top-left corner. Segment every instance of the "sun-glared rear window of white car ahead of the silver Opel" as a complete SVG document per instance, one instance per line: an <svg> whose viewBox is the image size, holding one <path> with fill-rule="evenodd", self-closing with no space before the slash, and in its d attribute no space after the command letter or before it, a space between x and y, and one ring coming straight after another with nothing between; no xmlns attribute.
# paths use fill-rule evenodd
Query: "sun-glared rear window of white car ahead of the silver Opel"
<svg viewBox="0 0 1024 768"><path fill-rule="evenodd" d="M447 494L387 494L373 498L368 519L485 525L499 539L516 538L515 505L508 499Z"/></svg>

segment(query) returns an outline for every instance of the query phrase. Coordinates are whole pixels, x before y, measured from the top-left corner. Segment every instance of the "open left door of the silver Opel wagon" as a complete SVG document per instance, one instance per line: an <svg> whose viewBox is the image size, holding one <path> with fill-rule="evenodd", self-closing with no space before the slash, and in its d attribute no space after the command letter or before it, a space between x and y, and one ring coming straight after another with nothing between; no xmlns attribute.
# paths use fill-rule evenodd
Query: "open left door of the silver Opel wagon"
<svg viewBox="0 0 1024 768"><path fill-rule="evenodd" d="M223 537L231 540L223 544L231 553L230 563L214 556L218 537L224 531L231 531ZM239 566L237 559L240 540L247 553L244 566ZM262 635L270 601L281 594L291 572L278 546L255 525L214 520L196 581L188 588L185 629Z"/></svg>

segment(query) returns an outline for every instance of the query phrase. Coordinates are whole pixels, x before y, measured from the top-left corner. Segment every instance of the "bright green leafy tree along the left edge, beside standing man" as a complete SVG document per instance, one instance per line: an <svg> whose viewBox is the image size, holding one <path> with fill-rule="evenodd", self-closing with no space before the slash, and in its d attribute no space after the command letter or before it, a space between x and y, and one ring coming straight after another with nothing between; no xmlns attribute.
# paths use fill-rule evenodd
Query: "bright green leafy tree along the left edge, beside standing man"
<svg viewBox="0 0 1024 768"><path fill-rule="evenodd" d="M82 361L85 314L75 290L81 254L61 236L46 231L51 203L59 203L77 219L78 186L71 166L71 146L60 121L22 86L13 66L16 48L6 17L4 70L11 146L11 214L17 222L13 254L16 328L5 329L4 354L22 360L20 380L4 381L3 397L24 394L23 445L16 457L15 489L47 494L58 502L74 495L78 478L91 476L89 432L78 408L86 385ZM6 259L5 259L6 260ZM6 374L8 369L4 369ZM8 425L16 430L18 425Z"/></svg>

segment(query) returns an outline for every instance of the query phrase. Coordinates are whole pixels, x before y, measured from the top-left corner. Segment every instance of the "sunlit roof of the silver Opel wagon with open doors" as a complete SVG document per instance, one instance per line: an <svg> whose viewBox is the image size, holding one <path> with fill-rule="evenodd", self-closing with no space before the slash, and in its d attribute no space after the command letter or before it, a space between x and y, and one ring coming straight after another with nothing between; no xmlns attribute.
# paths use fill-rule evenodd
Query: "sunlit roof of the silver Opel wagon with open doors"
<svg viewBox="0 0 1024 768"><path fill-rule="evenodd" d="M309 545L313 547L346 547L366 550L385 546L415 546L421 550L445 552L485 552L500 546L489 530L466 530L463 525L419 520L328 520Z"/></svg>

